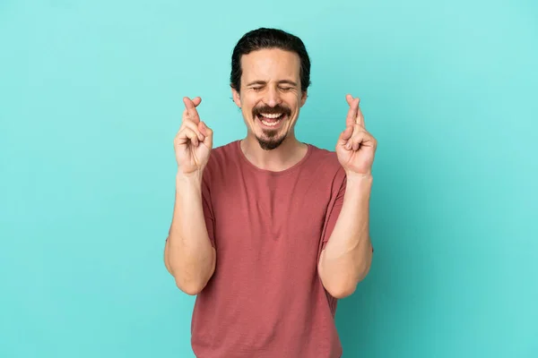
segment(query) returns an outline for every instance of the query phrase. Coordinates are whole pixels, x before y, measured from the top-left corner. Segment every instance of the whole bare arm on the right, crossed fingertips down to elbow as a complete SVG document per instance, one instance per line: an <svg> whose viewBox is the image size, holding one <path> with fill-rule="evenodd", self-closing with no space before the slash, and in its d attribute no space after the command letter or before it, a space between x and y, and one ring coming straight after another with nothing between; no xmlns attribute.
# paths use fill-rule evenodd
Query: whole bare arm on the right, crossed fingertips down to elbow
<svg viewBox="0 0 538 358"><path fill-rule="evenodd" d="M350 105L346 128L336 143L336 155L346 174L340 214L321 252L317 270L325 290L335 298L349 296L366 277L372 261L369 238L371 169L376 139L366 131L359 98L346 96Z"/></svg>

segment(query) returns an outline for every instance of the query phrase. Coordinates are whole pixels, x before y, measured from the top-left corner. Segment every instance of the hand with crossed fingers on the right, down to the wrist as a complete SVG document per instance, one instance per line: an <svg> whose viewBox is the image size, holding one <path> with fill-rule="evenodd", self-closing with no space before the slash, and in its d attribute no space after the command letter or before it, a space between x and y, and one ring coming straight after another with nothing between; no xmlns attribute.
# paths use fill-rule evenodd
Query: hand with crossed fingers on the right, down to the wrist
<svg viewBox="0 0 538 358"><path fill-rule="evenodd" d="M350 106L345 130L336 143L336 155L347 175L371 175L377 149L376 139L366 131L360 98L346 96Z"/></svg>

